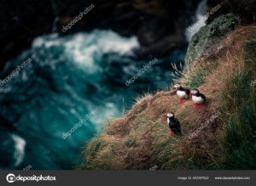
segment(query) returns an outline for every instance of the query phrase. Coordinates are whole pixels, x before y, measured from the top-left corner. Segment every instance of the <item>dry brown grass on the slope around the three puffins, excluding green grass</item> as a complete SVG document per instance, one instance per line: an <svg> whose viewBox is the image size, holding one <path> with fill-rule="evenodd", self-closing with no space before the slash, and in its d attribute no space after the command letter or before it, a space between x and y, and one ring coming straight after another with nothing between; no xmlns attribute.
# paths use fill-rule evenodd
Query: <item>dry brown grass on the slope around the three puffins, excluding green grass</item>
<svg viewBox="0 0 256 186"><path fill-rule="evenodd" d="M224 159L224 155L218 151L223 129L220 121L222 117L212 121L211 126L203 129L197 137L191 140L187 137L218 110L222 112L226 102L230 101L223 98L224 90L229 88L230 79L244 70L242 48L245 37L255 29L256 26L247 26L230 33L224 40L224 48L193 69L183 72L183 78L177 80L185 82L195 70L204 69L213 63L216 65L216 68L207 71L205 82L198 87L207 96L203 109L192 109L191 100L183 104L177 103L175 91L160 91L137 99L137 103L123 118L113 120L106 132L88 144L87 151L85 150L85 168L149 169L154 165L160 169L218 167L216 157L219 160ZM181 122L182 138L166 133L169 128L163 115L168 111L173 111ZM231 114L227 111L222 113L223 116ZM93 145L97 139L102 144L95 150Z"/></svg>

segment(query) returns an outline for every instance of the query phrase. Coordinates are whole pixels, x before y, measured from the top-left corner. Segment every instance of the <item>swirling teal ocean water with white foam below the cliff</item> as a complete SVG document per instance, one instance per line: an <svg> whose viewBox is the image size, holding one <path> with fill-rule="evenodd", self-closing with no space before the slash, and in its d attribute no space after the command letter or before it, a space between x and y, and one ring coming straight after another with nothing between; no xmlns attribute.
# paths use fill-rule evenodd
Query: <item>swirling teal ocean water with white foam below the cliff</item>
<svg viewBox="0 0 256 186"><path fill-rule="evenodd" d="M137 96L170 86L171 63L183 61L185 48L127 87L149 62L137 59L138 48L137 37L110 30L50 34L8 61L2 80L31 59L0 87L0 169L73 169L109 117L122 116Z"/></svg>

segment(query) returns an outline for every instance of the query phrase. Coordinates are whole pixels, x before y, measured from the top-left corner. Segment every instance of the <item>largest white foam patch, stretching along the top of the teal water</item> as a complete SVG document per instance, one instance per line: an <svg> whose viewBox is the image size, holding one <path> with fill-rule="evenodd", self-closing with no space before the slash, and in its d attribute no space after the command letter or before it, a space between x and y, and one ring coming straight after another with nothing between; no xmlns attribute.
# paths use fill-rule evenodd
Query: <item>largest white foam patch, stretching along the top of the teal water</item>
<svg viewBox="0 0 256 186"><path fill-rule="evenodd" d="M64 47L64 59L70 59L81 65L81 69L92 74L101 70L97 64L102 61L104 54L115 53L120 56L134 55L134 50L139 48L137 37L121 37L111 30L94 30L79 32L67 37L58 37L49 34L37 37L32 42L32 48ZM40 52L39 52L40 53ZM51 65L53 63L51 62Z"/></svg>

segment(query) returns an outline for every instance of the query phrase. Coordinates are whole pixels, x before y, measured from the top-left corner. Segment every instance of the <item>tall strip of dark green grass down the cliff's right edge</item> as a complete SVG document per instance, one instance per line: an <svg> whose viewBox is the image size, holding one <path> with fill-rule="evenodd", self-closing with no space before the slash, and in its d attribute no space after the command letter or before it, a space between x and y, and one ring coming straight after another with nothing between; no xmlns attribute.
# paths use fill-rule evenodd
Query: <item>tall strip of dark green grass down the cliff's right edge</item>
<svg viewBox="0 0 256 186"><path fill-rule="evenodd" d="M247 71L236 75L230 82L229 116L224 131L224 169L256 169L256 93L250 86L255 73L256 32L247 42ZM225 95L225 94L224 94Z"/></svg>

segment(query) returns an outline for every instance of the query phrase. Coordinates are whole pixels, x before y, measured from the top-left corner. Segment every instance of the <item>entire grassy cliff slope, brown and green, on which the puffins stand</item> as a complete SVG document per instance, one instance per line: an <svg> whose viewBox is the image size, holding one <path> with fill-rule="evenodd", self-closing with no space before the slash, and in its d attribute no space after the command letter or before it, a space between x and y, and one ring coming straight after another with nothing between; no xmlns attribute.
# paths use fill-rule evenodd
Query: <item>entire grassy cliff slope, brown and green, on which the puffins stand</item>
<svg viewBox="0 0 256 186"><path fill-rule="evenodd" d="M173 91L144 95L86 144L79 169L255 169L256 26L230 31L220 46L175 80L207 96L203 109ZM182 137L167 134L169 111Z"/></svg>

